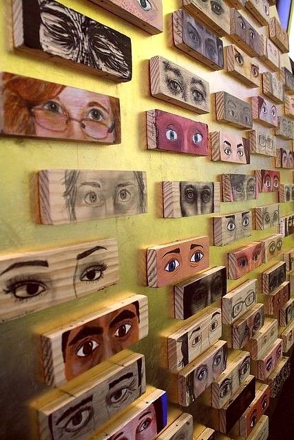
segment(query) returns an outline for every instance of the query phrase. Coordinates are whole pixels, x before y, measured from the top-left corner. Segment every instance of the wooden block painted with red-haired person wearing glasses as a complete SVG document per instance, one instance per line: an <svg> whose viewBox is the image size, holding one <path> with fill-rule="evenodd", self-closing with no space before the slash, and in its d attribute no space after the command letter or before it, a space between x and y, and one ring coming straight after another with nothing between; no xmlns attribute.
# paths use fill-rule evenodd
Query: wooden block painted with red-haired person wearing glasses
<svg viewBox="0 0 294 440"><path fill-rule="evenodd" d="M118 98L7 72L0 90L4 135L120 143Z"/></svg>

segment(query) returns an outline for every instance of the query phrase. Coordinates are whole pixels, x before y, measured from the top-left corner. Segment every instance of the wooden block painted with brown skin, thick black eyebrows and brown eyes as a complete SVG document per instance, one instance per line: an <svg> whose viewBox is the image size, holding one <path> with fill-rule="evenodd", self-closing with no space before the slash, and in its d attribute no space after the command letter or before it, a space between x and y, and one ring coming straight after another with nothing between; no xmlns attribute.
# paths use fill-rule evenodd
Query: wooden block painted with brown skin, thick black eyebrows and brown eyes
<svg viewBox="0 0 294 440"><path fill-rule="evenodd" d="M59 386L148 334L147 297L132 295L41 335L45 382Z"/></svg>

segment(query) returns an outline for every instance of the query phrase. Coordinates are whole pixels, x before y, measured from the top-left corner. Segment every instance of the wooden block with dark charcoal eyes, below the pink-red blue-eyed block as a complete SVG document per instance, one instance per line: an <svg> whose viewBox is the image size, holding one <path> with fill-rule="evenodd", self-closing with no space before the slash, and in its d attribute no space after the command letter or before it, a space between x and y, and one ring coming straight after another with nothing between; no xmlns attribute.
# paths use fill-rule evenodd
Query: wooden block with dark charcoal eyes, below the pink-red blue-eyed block
<svg viewBox="0 0 294 440"><path fill-rule="evenodd" d="M168 219L220 212L220 183L163 181L163 215Z"/></svg>

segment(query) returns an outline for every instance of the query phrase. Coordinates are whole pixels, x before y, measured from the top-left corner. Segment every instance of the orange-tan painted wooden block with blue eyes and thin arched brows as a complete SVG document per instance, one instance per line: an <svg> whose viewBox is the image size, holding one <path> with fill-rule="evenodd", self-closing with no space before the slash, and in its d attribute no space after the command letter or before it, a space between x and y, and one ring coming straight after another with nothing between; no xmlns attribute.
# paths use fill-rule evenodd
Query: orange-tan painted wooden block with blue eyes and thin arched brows
<svg viewBox="0 0 294 440"><path fill-rule="evenodd" d="M149 287L177 283L209 267L209 237L198 236L147 249Z"/></svg>

